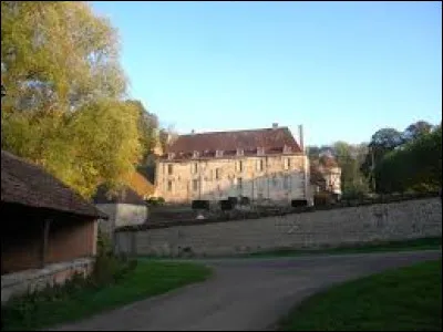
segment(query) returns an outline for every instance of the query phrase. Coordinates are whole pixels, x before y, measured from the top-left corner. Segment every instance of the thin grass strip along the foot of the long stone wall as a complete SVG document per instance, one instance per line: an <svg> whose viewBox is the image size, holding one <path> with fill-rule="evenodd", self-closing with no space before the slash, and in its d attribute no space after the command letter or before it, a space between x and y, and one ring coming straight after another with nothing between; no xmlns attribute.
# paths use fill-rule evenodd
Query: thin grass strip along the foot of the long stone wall
<svg viewBox="0 0 443 332"><path fill-rule="evenodd" d="M374 243L363 243L360 246L341 246L337 248L323 249L281 249L262 252L245 253L240 257L292 257L312 253L365 253L365 252L387 252L387 251L409 251L409 250L432 250L441 249L442 238L422 238L404 241L385 241Z"/></svg>

